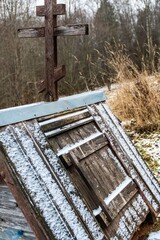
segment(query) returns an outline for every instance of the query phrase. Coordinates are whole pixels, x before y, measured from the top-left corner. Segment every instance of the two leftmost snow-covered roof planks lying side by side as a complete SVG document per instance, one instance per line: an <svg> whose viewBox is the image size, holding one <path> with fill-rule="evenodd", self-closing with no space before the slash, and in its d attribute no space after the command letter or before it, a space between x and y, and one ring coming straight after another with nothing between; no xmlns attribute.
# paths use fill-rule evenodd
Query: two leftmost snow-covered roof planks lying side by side
<svg viewBox="0 0 160 240"><path fill-rule="evenodd" d="M78 221L57 181L52 178L33 140L23 126L13 129L14 137L9 142L9 156L21 176L23 184L30 192L39 211L56 239L89 239ZM9 131L7 132L9 135ZM13 132L10 133L13 135ZM12 145L15 152L10 149ZM30 147L28 147L30 146ZM13 158L16 154L16 158ZM54 238L53 237L53 238Z"/></svg>

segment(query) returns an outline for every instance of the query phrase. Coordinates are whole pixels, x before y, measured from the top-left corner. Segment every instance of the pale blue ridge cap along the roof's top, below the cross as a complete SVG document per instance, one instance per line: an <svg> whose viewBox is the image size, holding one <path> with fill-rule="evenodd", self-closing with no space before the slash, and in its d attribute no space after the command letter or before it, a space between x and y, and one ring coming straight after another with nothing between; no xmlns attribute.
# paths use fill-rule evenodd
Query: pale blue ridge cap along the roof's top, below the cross
<svg viewBox="0 0 160 240"><path fill-rule="evenodd" d="M0 110L0 127L72 110L106 100L104 91L85 92L60 98L55 102L38 102Z"/></svg>

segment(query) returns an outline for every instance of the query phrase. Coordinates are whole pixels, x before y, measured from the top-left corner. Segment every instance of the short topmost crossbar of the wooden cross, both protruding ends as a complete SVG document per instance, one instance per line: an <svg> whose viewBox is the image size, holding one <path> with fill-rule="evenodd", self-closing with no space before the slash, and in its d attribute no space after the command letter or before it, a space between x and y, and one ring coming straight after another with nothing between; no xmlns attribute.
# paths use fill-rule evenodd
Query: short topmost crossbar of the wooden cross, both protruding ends
<svg viewBox="0 0 160 240"><path fill-rule="evenodd" d="M66 13L66 5L65 4L57 4L53 7L53 15L65 15ZM36 7L36 15L39 17L45 16L45 6L37 6Z"/></svg>

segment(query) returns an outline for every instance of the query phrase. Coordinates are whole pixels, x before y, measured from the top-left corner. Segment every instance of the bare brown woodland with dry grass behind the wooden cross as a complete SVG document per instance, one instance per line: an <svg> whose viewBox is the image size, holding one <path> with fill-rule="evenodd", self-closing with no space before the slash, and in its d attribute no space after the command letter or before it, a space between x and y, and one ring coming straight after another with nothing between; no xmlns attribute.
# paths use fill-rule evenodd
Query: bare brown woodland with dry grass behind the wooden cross
<svg viewBox="0 0 160 240"><path fill-rule="evenodd" d="M127 86L123 89L126 99L118 96L115 108L121 111L117 115L126 112L125 117L132 119L134 113L136 121L141 118L140 124L144 116L148 122L160 121L159 85L154 91L150 89L150 83L154 86L160 79L160 0L81 3L68 0L66 15L58 17L58 25L90 26L89 36L58 39L58 61L67 69L65 79L59 83L60 96L106 86L111 90L123 82ZM44 26L44 19L35 16L35 5L33 0L0 0L0 108L43 100L37 82L44 79L45 73L44 39L17 36L18 28ZM128 84L133 82L131 94ZM128 90L132 97L127 95ZM137 107L139 111L144 109L142 114Z"/></svg>

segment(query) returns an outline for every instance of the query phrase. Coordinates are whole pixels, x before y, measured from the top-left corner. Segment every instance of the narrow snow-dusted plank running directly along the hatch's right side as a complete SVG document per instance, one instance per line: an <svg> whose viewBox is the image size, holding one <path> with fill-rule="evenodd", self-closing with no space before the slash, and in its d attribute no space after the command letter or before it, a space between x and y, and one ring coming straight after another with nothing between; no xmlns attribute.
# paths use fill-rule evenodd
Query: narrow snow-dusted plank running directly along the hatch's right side
<svg viewBox="0 0 160 240"><path fill-rule="evenodd" d="M116 153L117 158L121 162L125 171L129 176L132 177L137 186L139 186L139 191L141 191L141 194L143 194L143 197L145 198L144 201L148 202L151 211L153 211L154 215L156 215L159 210L159 202L156 201L154 195L151 194L149 189L146 187L140 175L137 174L137 171L135 170L132 162L121 147L121 144L117 141L117 135L115 132L113 133L116 126L111 125L111 121L107 121L106 111L104 111L101 105L95 105L94 107L89 106L88 109L102 132L105 133L112 149Z"/></svg>

